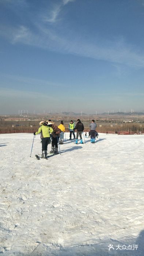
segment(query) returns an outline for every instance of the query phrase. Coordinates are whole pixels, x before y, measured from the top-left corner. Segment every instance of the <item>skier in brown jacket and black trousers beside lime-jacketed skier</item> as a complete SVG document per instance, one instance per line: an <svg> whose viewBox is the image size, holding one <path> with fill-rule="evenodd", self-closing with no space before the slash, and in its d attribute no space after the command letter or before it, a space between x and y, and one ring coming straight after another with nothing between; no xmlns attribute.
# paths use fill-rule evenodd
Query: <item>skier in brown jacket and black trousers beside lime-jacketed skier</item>
<svg viewBox="0 0 144 256"><path fill-rule="evenodd" d="M52 150L49 153L53 153L54 155L58 154L58 140L60 138L61 129L54 124L53 121L48 122L48 126L52 127ZM55 147L55 148L54 148Z"/></svg>

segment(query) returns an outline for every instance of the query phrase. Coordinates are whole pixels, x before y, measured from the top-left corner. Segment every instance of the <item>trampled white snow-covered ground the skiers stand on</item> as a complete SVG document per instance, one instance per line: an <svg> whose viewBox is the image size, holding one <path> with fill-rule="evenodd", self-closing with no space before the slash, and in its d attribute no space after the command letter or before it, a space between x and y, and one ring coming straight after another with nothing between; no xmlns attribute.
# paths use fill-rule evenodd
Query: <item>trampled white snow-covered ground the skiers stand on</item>
<svg viewBox="0 0 144 256"><path fill-rule="evenodd" d="M48 160L33 138L0 135L1 255L143 256L144 135L67 140Z"/></svg>

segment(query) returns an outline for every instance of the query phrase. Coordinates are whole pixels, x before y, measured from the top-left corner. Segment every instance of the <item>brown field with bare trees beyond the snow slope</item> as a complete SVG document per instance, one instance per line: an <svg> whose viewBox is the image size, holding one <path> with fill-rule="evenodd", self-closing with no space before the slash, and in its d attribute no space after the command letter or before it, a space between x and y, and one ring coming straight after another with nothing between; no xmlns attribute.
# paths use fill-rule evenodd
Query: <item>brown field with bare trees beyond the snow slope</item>
<svg viewBox="0 0 144 256"><path fill-rule="evenodd" d="M97 132L118 133L118 134L140 134L144 133L144 116L140 115L86 115L86 116L62 116L55 114L51 116L29 115L29 116L0 116L0 133L33 133L39 128L39 122L42 120L53 120L56 125L63 120L66 132L71 120L77 123L80 118L84 124L84 131L89 131L89 124L94 119L97 124ZM126 123L124 123L124 121ZM130 122L130 123L129 123ZM138 122L138 123L137 123Z"/></svg>

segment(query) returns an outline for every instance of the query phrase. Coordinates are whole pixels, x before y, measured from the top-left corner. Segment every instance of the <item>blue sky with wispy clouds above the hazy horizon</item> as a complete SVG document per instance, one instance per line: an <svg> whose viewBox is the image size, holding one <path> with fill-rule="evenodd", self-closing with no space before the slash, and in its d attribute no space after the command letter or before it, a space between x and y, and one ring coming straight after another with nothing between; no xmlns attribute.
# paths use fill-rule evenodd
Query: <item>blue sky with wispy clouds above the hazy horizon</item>
<svg viewBox="0 0 144 256"><path fill-rule="evenodd" d="M0 0L0 114L144 110L144 0Z"/></svg>

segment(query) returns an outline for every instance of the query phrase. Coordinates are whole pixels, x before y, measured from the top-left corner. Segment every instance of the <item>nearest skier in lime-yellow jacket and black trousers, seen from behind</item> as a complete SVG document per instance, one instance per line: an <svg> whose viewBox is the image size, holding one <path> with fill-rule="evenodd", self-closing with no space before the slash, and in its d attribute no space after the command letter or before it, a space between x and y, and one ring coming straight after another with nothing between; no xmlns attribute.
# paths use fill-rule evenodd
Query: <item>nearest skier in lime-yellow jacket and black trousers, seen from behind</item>
<svg viewBox="0 0 144 256"><path fill-rule="evenodd" d="M34 135L37 135L41 133L41 139L42 139L42 158L46 158L47 155L47 149L48 149L48 144L50 141L50 133L53 132L52 127L49 127L45 121L41 121L39 123L41 125L38 129L37 132L34 132Z"/></svg>

